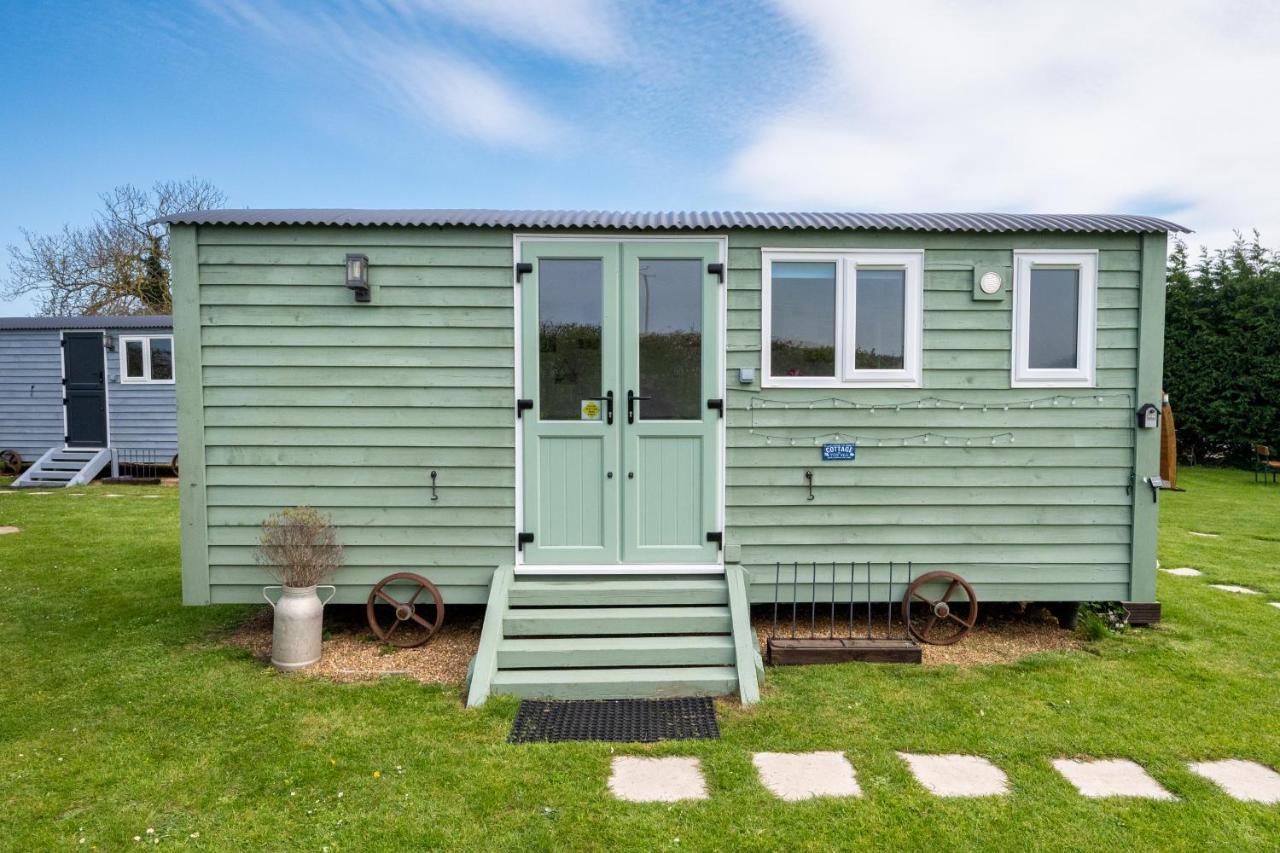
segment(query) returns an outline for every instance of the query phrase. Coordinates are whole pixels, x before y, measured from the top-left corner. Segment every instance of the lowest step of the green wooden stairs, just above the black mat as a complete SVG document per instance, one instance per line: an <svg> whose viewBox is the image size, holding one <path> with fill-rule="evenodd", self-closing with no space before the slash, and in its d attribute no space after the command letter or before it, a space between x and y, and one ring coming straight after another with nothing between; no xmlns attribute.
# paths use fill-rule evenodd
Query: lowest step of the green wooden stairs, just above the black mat
<svg viewBox="0 0 1280 853"><path fill-rule="evenodd" d="M525 699L657 699L727 695L737 690L732 666L617 670L499 670L493 692Z"/></svg>

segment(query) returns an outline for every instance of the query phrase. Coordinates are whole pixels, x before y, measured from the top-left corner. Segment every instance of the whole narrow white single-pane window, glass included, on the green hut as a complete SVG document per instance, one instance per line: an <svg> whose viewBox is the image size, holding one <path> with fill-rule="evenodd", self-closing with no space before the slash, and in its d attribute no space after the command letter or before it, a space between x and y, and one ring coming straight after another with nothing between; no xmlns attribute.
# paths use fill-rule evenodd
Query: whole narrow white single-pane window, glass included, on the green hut
<svg viewBox="0 0 1280 853"><path fill-rule="evenodd" d="M1010 384L1094 384L1097 252L1014 252Z"/></svg>

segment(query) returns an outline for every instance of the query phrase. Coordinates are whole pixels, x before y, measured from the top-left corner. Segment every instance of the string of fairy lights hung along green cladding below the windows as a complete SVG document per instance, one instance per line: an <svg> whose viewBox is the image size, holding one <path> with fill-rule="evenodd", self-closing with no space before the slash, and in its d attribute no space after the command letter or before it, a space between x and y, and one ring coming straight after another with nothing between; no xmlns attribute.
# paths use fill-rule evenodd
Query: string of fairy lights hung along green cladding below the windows
<svg viewBox="0 0 1280 853"><path fill-rule="evenodd" d="M1102 393L1102 394L1053 394L1051 397L1036 397L1030 400L1000 400L988 402L974 402L972 400L948 400L946 397L920 397L919 400L896 401L896 402L858 402L851 400L844 400L841 397L823 397L820 400L805 400L805 401L792 401L792 400L777 400L773 397L753 397L748 403L748 411L751 414L751 425L748 432L751 435L759 435L764 438L765 444L788 444L791 447L799 447L801 444L813 446L823 444L827 442L852 442L855 444L863 444L864 447L1002 447L1014 444L1016 437L1014 433L1006 430L1001 433L992 433L988 435L955 435L947 433L940 433L934 430L915 433L911 435L867 435L863 433L849 433L845 430L826 430L820 433L813 433L808 435L797 435L794 432L788 433L772 433L765 429L756 426L755 415L760 410L765 409L781 409L781 410L795 410L795 409L845 409L845 410L859 410L865 411L869 415L874 415L877 411L902 411L902 410L922 410L922 409L945 409L955 411L1011 411L1020 409L1078 409L1082 406L1088 406L1093 409L1115 409L1120 407L1121 403L1112 401L1124 401L1123 406L1132 406L1133 397L1128 393Z"/></svg>

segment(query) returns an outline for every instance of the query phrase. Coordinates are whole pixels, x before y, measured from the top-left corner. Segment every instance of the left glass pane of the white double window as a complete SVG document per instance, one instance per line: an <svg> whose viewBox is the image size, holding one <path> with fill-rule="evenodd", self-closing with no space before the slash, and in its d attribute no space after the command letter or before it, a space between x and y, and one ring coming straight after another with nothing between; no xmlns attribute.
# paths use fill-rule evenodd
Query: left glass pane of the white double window
<svg viewBox="0 0 1280 853"><path fill-rule="evenodd" d="M836 375L836 265L773 264L769 323L774 377Z"/></svg>

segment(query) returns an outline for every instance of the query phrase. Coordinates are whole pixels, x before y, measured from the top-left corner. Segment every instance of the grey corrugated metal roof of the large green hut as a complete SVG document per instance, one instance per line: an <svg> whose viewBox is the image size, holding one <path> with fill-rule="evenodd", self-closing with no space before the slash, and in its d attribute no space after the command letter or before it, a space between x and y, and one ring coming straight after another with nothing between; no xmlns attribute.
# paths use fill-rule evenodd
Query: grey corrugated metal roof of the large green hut
<svg viewBox="0 0 1280 853"><path fill-rule="evenodd" d="M749 213L735 210L626 213L609 210L196 210L156 222L170 225L457 225L480 228L611 228L728 231L735 228L924 232L1160 233L1188 228L1125 214L1000 213Z"/></svg>

